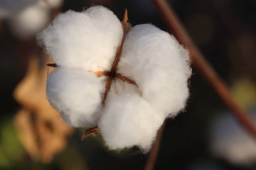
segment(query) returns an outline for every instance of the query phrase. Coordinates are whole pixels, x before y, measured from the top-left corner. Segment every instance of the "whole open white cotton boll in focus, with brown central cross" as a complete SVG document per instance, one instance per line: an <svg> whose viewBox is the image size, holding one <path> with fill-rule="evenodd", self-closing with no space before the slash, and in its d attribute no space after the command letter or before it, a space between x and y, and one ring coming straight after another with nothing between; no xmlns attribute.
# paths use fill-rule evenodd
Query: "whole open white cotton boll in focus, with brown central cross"
<svg viewBox="0 0 256 170"><path fill-rule="evenodd" d="M38 37L57 67L46 95L63 120L100 132L110 149L148 151L166 118L184 110L189 53L151 24L127 27L102 6L59 15Z"/></svg>

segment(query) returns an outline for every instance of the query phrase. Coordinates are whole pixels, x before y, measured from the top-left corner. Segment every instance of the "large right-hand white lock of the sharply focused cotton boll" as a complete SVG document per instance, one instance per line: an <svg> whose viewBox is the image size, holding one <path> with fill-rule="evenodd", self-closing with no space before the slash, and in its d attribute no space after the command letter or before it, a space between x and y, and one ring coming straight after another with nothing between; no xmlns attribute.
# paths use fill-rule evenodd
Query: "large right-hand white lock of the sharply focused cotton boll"
<svg viewBox="0 0 256 170"><path fill-rule="evenodd" d="M189 96L189 54L167 32L142 24L128 32L118 73L133 79L152 107L176 116Z"/></svg>

